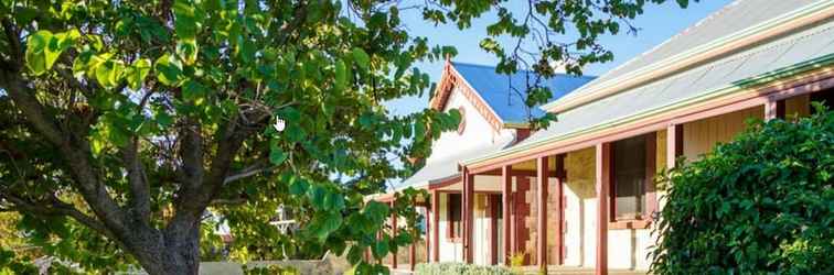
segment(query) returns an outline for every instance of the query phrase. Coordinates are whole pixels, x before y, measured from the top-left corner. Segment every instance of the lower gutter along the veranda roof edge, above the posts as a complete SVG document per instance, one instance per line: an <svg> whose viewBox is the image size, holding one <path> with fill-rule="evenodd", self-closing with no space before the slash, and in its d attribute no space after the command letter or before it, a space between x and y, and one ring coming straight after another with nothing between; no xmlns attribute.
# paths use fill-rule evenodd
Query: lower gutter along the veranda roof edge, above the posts
<svg viewBox="0 0 834 275"><path fill-rule="evenodd" d="M568 139L571 139L571 138L576 138L576 136L580 136L580 135L592 134L595 132L599 132L599 131L605 130L605 129L610 128L610 127L627 124L627 123L630 123L630 122L635 122L635 121L643 120L645 118L651 118L651 117L660 116L662 113L665 113L665 112L669 112L669 111L673 111L673 110L678 109L678 108L684 107L684 106L695 105L695 103L699 103L699 102L705 102L705 101L708 101L708 100L712 100L712 99L715 99L715 98L720 98L723 96L727 96L727 95L731 95L731 94L735 94L735 92L739 92L739 91L749 89L751 87L761 86L761 85L764 85L764 84L768 84L768 82L772 82L772 81L778 80L778 79L783 79L783 78L789 78L789 77L798 76L798 75L801 75L803 73L808 73L808 72L811 72L811 70L824 67L824 66L831 66L831 65L834 65L834 54L824 55L824 56L821 56L821 57L817 57L817 58L814 58L814 59L810 59L810 61L806 61L806 62L794 64L794 65L789 66L789 67L777 69L777 70L773 70L771 73L767 73L767 74L763 74L763 75L760 75L760 76L757 76L757 77L751 77L751 78L748 78L748 79L745 79L745 80L739 80L739 81L736 81L734 84L726 85L726 86L724 86L721 88L714 89L714 90L712 90L709 92L706 92L704 95L692 97L692 98L688 98L688 99L684 99L684 100L681 100L681 101L677 101L677 102L674 102L674 103L670 103L670 105L666 105L666 106L649 109L649 110L645 110L643 112L639 112L637 114L624 116L624 117L620 117L620 118L617 118L617 119L608 120L606 122L596 124L594 127L589 127L589 128L580 129L580 130L577 130L577 131L574 131L574 132L570 132L570 133L565 133L565 134L562 134L562 135L555 135L555 136L546 138L546 139L543 139L543 140L539 140L539 141L531 142L531 143L527 143L527 144L522 144L522 145L518 145L518 146L510 147L510 148L507 148L505 151L500 151L500 152L496 152L494 154L485 155L483 157L464 160L460 164L464 165L464 166L474 166L472 168L477 168L477 167L480 167L480 166L488 165L489 163L492 163L493 161L496 161L499 158L509 158L509 157L515 156L515 155L517 155L520 153L523 153L525 151L531 151L531 150L534 150L535 147L539 147L539 146L543 146L543 145L546 145L546 144L557 143L557 142L560 142L560 141L564 141L564 140L568 140Z"/></svg>

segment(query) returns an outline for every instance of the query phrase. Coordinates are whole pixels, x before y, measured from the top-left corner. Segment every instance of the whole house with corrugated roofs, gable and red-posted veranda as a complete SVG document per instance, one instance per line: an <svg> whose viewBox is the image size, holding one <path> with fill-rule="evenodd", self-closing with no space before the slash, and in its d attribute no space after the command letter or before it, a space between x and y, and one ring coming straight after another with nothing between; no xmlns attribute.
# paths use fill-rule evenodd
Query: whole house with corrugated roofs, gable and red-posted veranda
<svg viewBox="0 0 834 275"><path fill-rule="evenodd" d="M449 68L431 107L463 106L464 130L445 134L426 167L395 188L431 194L427 261L496 265L515 255L533 270L644 272L664 205L657 172L698 160L748 119L832 106L834 1L735 1L543 106L558 121L535 132L487 111L485 122L470 121L471 108L490 109L463 98L492 78Z"/></svg>

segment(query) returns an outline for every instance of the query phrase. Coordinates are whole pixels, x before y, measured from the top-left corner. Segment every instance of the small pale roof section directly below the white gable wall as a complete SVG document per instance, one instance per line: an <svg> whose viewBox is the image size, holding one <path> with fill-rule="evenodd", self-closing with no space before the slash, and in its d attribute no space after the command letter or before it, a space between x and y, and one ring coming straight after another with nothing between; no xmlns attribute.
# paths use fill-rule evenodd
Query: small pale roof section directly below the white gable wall
<svg viewBox="0 0 834 275"><path fill-rule="evenodd" d="M492 144L474 147L471 150L458 152L455 155L450 155L443 160L438 160L426 164L423 168L417 170L411 177L395 184L393 187L396 190L406 187L423 187L428 184L442 182L450 177L459 176L458 163L463 160L474 158L488 154L496 153L512 144L513 139L505 138L503 140L495 141Z"/></svg>

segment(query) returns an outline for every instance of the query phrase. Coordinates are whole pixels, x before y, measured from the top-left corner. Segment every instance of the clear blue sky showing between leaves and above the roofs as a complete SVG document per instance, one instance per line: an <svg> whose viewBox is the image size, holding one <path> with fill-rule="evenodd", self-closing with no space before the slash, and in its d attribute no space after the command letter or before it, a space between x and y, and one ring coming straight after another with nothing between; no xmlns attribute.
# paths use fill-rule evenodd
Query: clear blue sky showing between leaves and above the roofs
<svg viewBox="0 0 834 275"><path fill-rule="evenodd" d="M693 0L689 0L689 7L686 9L681 9L675 2L666 1L666 3L660 6L653 4L646 7L645 12L632 21L632 24L640 29L637 35L621 32L618 35L603 36L600 42L613 52L614 59L605 64L592 64L586 67L584 73L595 76L605 74L607 70L663 43L730 1L703 0L702 2L693 2ZM520 8L518 11L514 12L523 11ZM435 26L434 24L425 23L419 12L403 14L403 22L413 36L426 36L429 38L430 44L455 46L458 50L458 56L453 58L455 62L490 66L498 63L495 57L483 52L478 46L481 38L487 35L487 25L494 22L494 14L485 14L483 18L474 20L472 28L463 31L459 31L453 25ZM420 70L431 76L432 81L437 81L440 78L442 66L443 62L421 63L417 65ZM415 112L428 106L428 92L425 92L421 98L400 98L387 102L386 106L394 114Z"/></svg>

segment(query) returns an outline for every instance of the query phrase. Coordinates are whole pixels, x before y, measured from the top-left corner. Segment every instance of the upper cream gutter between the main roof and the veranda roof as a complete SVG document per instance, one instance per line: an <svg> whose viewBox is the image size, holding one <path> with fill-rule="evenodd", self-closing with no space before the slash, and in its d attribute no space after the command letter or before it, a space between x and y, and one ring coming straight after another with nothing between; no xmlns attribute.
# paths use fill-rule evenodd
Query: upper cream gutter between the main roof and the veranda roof
<svg viewBox="0 0 834 275"><path fill-rule="evenodd" d="M548 112L564 112L648 81L685 70L704 61L730 54L738 48L779 37L831 16L834 16L834 1L819 1L808 4L792 12L693 47L689 51L670 56L650 66L609 79L587 91L568 94L560 99L542 106L542 109Z"/></svg>

